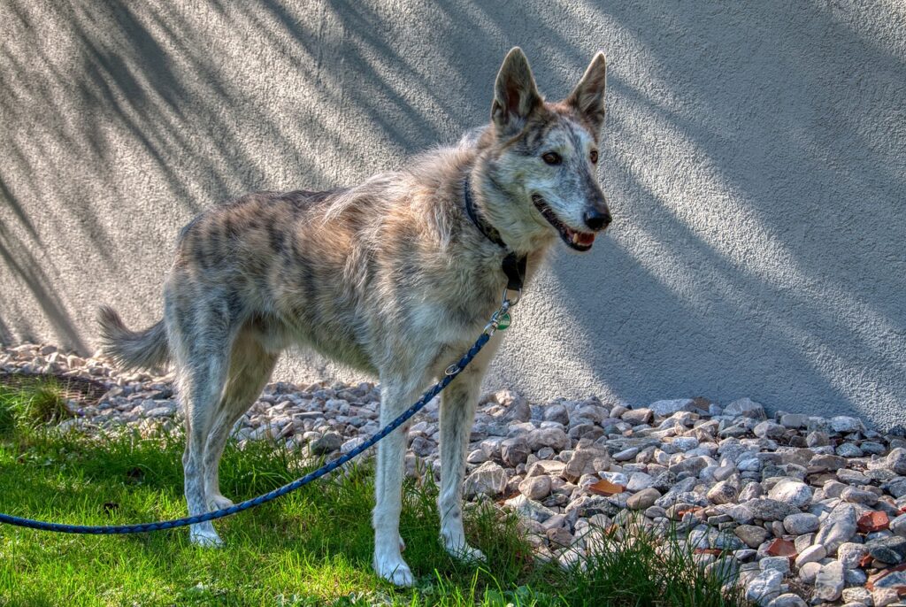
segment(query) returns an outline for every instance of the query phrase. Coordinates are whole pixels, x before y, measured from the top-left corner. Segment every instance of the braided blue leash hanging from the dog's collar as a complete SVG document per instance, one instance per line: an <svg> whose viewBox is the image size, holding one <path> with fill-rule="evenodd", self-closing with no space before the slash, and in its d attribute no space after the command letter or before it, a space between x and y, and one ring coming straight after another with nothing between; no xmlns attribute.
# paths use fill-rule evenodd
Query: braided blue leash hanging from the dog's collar
<svg viewBox="0 0 906 607"><path fill-rule="evenodd" d="M517 300L516 300L517 301ZM504 292L503 304L500 306L500 309L497 310L492 316L490 323L487 323L485 330L478 336L475 344L469 348L468 352L456 363L451 364L447 371L444 372L444 377L438 383L434 384L430 390L425 392L422 397L415 402L409 409L403 411L400 416L389 424L387 424L383 429L381 429L376 434L372 435L371 438L361 443L356 448L353 448L352 451L347 453L344 456L334 459L333 461L324 464L322 467L319 467L317 470L310 472L302 478L294 480L288 485L283 487L278 487L269 493L265 493L263 496L253 497L252 499L246 499L245 502L240 502L239 504L234 504L226 508L221 508L220 510L215 510L214 512L208 512L204 515L195 515L195 516L185 516L183 518L177 518L169 521L159 521L157 523L140 523L138 525L63 525L60 523L48 523L46 521L35 521L30 518L21 518L19 516L11 516L0 514L0 523L5 523L6 525L15 525L19 527L28 527L29 529L38 529L40 531L55 531L61 534L91 534L91 535L113 535L113 534L138 534L148 531L159 531L161 529L175 529L176 527L184 527L186 525L195 525L196 523L205 523L206 521L213 521L217 518L223 518L224 516L235 515L236 513L242 512L243 510L248 510L249 508L254 508L255 506L261 506L267 502L275 500L277 497L285 496L287 493L293 492L299 487L304 487L311 483L314 479L323 477L325 474L333 472L333 470L341 467L346 462L350 461L352 458L359 456L363 451L367 450L374 446L381 438L386 437L390 432L400 427L401 424L405 423L407 419L410 419L413 415L419 412L425 405L429 403L429 400L437 396L441 390L446 388L449 385L450 381L453 381L456 376L461 373L481 351L488 340L491 339L491 335L497 330L498 325L500 325L501 331L506 328L509 324L509 313L507 312L511 305L516 302L511 302L506 297L506 291Z"/></svg>

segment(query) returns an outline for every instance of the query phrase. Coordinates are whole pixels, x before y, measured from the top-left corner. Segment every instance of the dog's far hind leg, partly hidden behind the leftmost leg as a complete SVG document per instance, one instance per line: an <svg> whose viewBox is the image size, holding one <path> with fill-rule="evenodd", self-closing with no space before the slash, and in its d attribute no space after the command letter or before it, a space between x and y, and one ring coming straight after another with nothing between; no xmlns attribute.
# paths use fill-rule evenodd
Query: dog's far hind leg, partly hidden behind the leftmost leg
<svg viewBox="0 0 906 607"><path fill-rule="evenodd" d="M220 457L234 424L264 389L279 356L267 352L254 333L247 330L233 342L226 388L205 445L205 498L211 510L233 505L220 493Z"/></svg>

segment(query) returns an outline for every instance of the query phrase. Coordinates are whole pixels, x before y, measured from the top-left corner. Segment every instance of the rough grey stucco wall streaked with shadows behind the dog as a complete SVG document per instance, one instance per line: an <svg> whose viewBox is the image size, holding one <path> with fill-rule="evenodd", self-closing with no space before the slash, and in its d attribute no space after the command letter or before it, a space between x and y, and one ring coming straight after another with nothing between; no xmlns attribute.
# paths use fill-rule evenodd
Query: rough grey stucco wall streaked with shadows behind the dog
<svg viewBox="0 0 906 607"><path fill-rule="evenodd" d="M900 2L160 6L0 3L3 342L150 323L198 209L455 140L514 44L552 98L602 49L612 233L554 255L488 385L903 421Z"/></svg>

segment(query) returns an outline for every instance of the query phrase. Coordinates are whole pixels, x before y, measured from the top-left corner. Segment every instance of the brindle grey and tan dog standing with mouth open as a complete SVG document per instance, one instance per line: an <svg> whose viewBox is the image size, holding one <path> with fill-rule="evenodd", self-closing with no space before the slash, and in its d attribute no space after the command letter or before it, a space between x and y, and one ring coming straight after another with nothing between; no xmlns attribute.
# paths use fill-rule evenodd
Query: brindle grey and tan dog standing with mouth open
<svg viewBox="0 0 906 607"><path fill-rule="evenodd" d="M191 515L232 504L220 493L221 454L287 347L380 378L383 426L483 330L509 282L507 257L530 280L558 239L592 248L611 223L595 166L605 72L597 53L573 92L548 102L516 47L497 74L490 123L458 145L352 188L257 192L204 211L179 234L158 323L132 332L101 307L114 361L175 366ZM500 339L440 403L440 538L470 561L484 555L463 529L466 449ZM400 586L413 583L399 533L407 429L378 444L372 516L374 569ZM210 522L192 525L190 538L222 544Z"/></svg>

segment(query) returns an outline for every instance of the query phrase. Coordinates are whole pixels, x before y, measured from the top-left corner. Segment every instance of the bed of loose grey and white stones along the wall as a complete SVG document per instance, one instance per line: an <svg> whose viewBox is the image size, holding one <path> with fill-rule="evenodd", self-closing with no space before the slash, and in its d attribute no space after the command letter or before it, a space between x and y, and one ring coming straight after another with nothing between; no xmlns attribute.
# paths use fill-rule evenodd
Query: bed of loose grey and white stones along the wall
<svg viewBox="0 0 906 607"><path fill-rule="evenodd" d="M0 370L103 386L100 398L69 401L75 417L60 431L180 423L167 376L34 344L0 350ZM275 382L234 436L330 458L379 429L379 403L367 382ZM410 476L439 471L438 405L412 421ZM672 528L701 566L761 605L906 605L906 438L860 419L768 416L747 398L628 407L500 390L482 397L470 441L467 500L516 510L539 558L570 563L629 525Z"/></svg>

